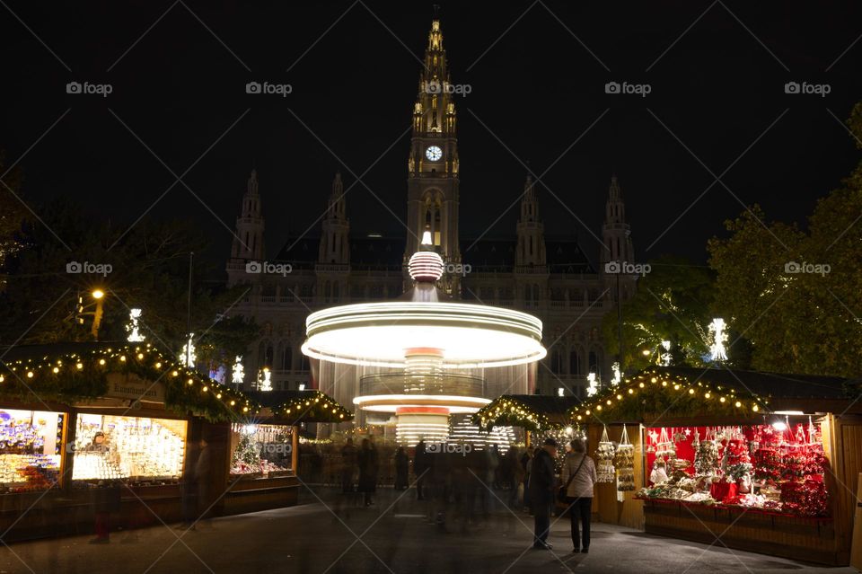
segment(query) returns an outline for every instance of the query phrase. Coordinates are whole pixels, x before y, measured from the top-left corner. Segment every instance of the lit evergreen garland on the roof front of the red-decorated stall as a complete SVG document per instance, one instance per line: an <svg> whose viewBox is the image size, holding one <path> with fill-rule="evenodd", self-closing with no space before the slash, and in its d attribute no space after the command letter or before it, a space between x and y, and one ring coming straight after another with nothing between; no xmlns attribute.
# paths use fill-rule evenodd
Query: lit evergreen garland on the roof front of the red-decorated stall
<svg viewBox="0 0 862 574"><path fill-rule="evenodd" d="M576 422L639 421L647 415L747 415L765 409L767 401L734 388L690 381L682 375L642 371L624 384L604 388L568 411Z"/></svg>

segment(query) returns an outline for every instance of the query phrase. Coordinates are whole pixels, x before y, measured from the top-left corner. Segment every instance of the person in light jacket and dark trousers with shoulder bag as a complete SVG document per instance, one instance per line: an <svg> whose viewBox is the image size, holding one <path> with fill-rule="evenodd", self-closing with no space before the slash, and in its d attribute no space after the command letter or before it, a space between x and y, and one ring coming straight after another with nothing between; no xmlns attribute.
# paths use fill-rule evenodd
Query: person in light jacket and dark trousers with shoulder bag
<svg viewBox="0 0 862 574"><path fill-rule="evenodd" d="M572 452L563 464L563 481L566 483L568 516L572 521L572 552L590 551L590 518L593 514L593 489L597 477L593 459L586 455L583 438L571 442ZM578 535L578 521L581 524Z"/></svg>

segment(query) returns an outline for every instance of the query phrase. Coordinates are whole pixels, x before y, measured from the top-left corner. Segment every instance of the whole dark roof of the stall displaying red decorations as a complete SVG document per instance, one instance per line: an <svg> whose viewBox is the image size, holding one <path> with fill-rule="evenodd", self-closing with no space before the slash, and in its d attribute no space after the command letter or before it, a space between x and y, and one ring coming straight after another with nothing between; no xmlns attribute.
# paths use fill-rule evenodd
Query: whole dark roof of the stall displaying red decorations
<svg viewBox="0 0 862 574"><path fill-rule="evenodd" d="M569 415L574 422L761 418L775 411L860 412L857 383L832 376L655 366L606 386Z"/></svg>

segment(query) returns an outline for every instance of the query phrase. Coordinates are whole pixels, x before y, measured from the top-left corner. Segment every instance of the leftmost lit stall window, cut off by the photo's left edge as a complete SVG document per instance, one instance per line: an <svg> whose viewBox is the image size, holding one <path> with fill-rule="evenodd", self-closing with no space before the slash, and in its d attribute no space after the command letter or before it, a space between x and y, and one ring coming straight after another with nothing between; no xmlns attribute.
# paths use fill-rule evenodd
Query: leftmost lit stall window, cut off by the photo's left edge
<svg viewBox="0 0 862 574"><path fill-rule="evenodd" d="M57 482L65 416L0 410L0 490L48 490Z"/></svg>

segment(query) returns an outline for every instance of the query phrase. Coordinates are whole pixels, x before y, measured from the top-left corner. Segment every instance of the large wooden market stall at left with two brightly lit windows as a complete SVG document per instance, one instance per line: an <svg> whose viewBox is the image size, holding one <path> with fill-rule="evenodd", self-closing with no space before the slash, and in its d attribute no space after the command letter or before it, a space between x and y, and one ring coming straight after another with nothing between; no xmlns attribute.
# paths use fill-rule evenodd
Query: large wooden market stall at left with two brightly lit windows
<svg viewBox="0 0 862 574"><path fill-rule="evenodd" d="M207 421L257 411L150 345L12 349L0 365L0 528L7 539L90 532L96 506L114 526L178 520L189 444Z"/></svg>

